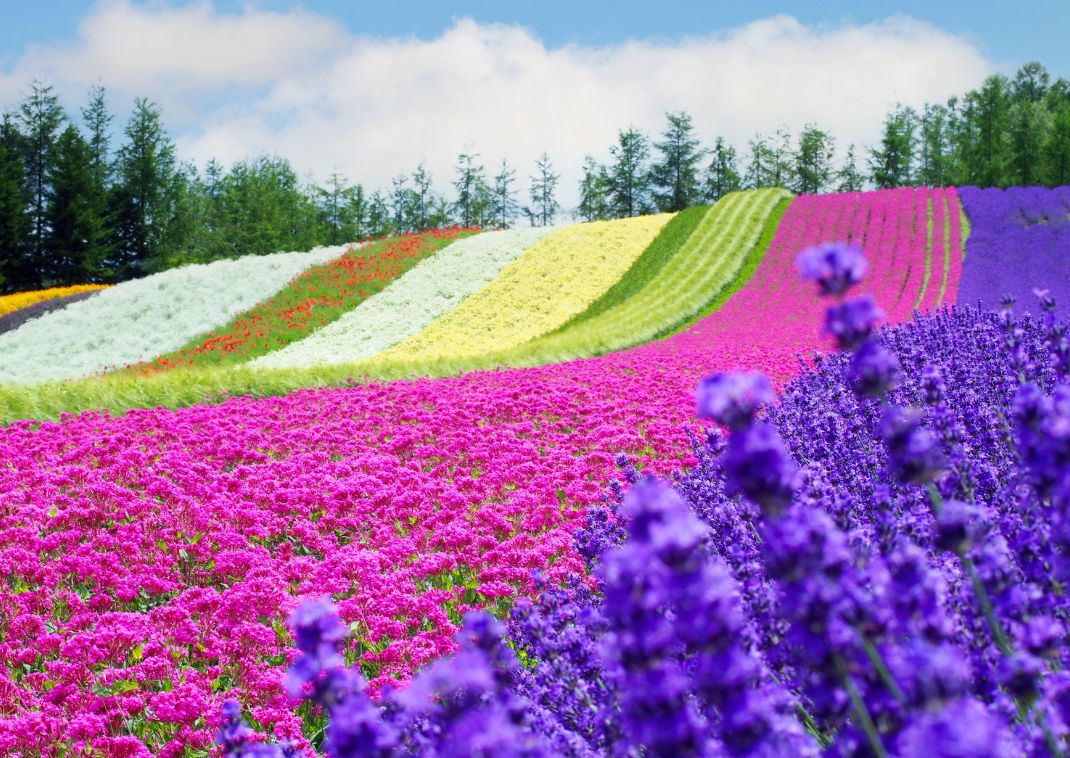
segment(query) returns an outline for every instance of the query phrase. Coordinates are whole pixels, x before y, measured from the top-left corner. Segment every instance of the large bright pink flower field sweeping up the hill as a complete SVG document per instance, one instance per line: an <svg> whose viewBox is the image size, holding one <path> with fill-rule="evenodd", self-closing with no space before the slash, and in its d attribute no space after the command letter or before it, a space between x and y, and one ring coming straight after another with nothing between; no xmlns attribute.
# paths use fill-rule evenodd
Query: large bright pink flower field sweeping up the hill
<svg viewBox="0 0 1070 758"><path fill-rule="evenodd" d="M782 383L829 349L799 249L860 242L901 322L954 302L959 217L953 190L798 197L723 307L601 359L0 430L0 753L207 752L225 697L303 739L280 676L304 597L335 600L373 693L406 682L467 608L582 571L615 454L691 463L703 375Z"/></svg>

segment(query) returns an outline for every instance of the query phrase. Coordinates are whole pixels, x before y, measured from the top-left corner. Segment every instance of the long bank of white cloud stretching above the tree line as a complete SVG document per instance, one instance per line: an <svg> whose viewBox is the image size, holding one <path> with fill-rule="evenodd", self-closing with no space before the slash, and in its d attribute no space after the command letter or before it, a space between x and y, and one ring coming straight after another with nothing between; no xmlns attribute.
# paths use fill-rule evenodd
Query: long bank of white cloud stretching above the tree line
<svg viewBox="0 0 1070 758"><path fill-rule="evenodd" d="M445 188L462 149L488 168L507 157L524 177L546 150L571 202L584 153L605 157L629 124L656 135L667 110L688 110L707 142L743 148L756 131L812 122L862 146L896 102L944 100L994 70L974 44L906 17L815 28L775 16L678 41L547 47L521 27L470 19L432 40L374 39L301 12L113 2L75 45L31 49L0 74L0 102L4 79L25 89L44 76L62 91L100 78L188 123L185 157L269 151L303 173L337 167L372 186L425 160Z"/></svg>

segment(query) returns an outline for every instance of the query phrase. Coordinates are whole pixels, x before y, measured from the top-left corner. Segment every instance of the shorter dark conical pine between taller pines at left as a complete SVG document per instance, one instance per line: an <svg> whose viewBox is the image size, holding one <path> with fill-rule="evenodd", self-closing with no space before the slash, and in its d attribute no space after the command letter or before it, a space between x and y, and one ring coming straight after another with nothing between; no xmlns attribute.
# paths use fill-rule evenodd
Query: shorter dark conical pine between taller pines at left
<svg viewBox="0 0 1070 758"><path fill-rule="evenodd" d="M74 126L56 141L48 185L48 283L100 282L108 256L93 150Z"/></svg>

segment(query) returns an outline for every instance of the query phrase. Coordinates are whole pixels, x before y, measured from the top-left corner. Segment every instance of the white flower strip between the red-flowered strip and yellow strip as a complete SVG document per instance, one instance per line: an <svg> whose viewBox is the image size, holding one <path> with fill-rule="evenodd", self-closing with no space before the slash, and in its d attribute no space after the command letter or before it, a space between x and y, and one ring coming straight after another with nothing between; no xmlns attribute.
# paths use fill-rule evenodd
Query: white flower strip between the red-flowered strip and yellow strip
<svg viewBox="0 0 1070 758"><path fill-rule="evenodd" d="M250 365L286 368L370 358L453 310L552 230L551 227L508 229L458 240L421 261L337 321L258 358Z"/></svg>

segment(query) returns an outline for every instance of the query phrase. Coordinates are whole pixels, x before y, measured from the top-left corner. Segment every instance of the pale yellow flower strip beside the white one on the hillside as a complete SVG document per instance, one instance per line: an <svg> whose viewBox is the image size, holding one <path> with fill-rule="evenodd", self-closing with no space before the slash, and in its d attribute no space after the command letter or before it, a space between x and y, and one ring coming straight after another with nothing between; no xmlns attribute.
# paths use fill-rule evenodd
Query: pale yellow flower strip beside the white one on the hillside
<svg viewBox="0 0 1070 758"><path fill-rule="evenodd" d="M380 358L469 358L546 334L621 278L671 217L662 213L591 222L551 232L498 278Z"/></svg>

